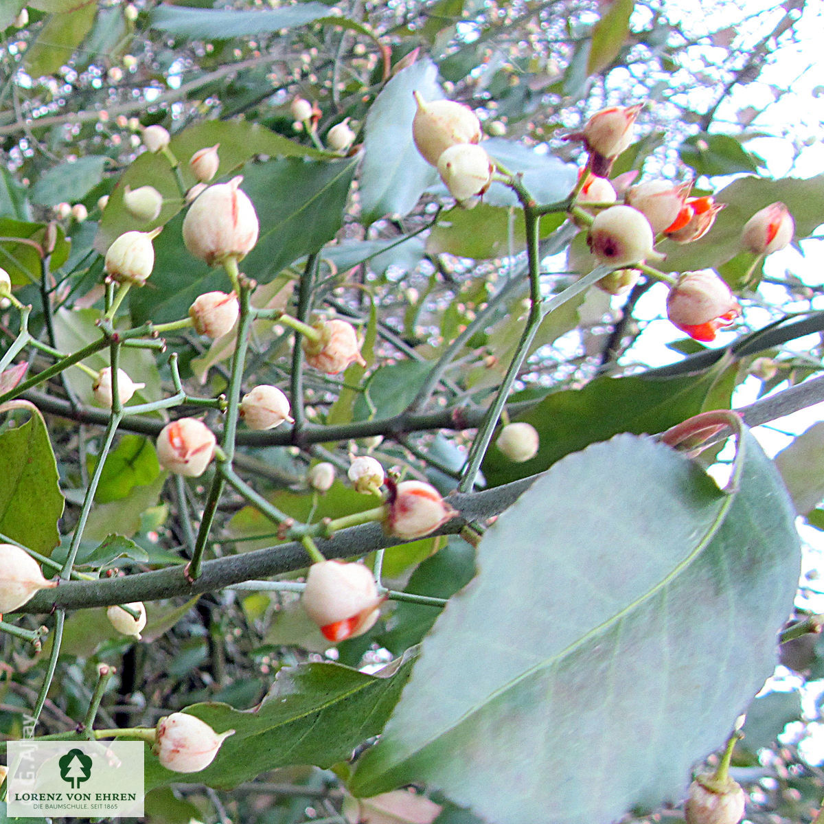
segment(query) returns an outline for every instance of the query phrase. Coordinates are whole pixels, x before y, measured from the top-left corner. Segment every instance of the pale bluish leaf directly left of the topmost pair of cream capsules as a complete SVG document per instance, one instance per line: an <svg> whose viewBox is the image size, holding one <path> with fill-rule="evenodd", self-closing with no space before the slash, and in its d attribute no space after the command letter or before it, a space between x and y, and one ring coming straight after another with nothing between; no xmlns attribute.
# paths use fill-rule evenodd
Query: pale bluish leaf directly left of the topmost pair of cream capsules
<svg viewBox="0 0 824 824"><path fill-rule="evenodd" d="M361 219L367 225L385 214L409 213L438 178L412 140L412 92L427 101L441 98L436 77L438 67L419 59L392 77L369 109L360 174Z"/></svg>

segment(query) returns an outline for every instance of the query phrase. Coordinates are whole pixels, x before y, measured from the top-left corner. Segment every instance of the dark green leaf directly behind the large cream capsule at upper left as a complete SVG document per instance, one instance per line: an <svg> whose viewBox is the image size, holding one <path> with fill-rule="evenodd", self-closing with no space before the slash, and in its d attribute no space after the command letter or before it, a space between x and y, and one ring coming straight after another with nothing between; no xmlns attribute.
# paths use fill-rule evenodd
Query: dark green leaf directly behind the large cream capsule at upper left
<svg viewBox="0 0 824 824"><path fill-rule="evenodd" d="M321 249L343 222L344 204L357 160L304 161L284 157L246 167L243 190L260 220L255 248L241 263L258 283L269 283L294 260ZM288 196L287 194L288 193ZM230 288L220 267L210 268L183 245L178 215L154 241L155 267L147 287L133 290L135 322L176 321L195 297Z"/></svg>

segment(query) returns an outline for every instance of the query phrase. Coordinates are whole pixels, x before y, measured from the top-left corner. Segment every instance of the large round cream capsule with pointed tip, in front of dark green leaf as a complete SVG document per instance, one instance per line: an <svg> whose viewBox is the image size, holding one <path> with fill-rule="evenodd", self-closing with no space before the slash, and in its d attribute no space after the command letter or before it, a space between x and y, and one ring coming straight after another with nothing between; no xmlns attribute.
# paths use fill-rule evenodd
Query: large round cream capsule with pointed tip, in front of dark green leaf
<svg viewBox="0 0 824 824"><path fill-rule="evenodd" d="M184 218L186 248L210 266L229 258L242 260L257 242L257 213L239 188L242 180L237 176L228 183L209 186L191 204Z"/></svg>

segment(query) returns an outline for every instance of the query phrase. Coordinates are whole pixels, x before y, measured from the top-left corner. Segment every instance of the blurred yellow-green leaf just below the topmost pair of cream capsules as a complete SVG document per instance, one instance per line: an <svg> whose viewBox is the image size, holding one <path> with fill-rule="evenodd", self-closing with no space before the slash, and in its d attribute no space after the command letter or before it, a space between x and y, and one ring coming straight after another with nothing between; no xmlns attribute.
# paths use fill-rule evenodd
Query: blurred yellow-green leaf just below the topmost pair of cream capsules
<svg viewBox="0 0 824 824"><path fill-rule="evenodd" d="M564 222L564 215L541 218L540 236L548 237ZM475 208L453 208L443 213L429 232L430 255L447 252L473 260L506 257L526 248L523 212L518 208L480 204Z"/></svg>

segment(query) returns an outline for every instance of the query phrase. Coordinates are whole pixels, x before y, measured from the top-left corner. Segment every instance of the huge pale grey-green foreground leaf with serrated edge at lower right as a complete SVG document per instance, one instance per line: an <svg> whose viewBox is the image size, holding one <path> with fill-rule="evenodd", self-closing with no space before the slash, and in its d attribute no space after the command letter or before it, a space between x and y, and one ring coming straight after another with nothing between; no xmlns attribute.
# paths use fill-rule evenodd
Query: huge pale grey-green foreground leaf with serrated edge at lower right
<svg viewBox="0 0 824 824"><path fill-rule="evenodd" d="M536 480L485 533L349 789L426 781L495 824L679 798L773 672L798 583L794 514L748 432L739 460L722 494L625 434Z"/></svg>

